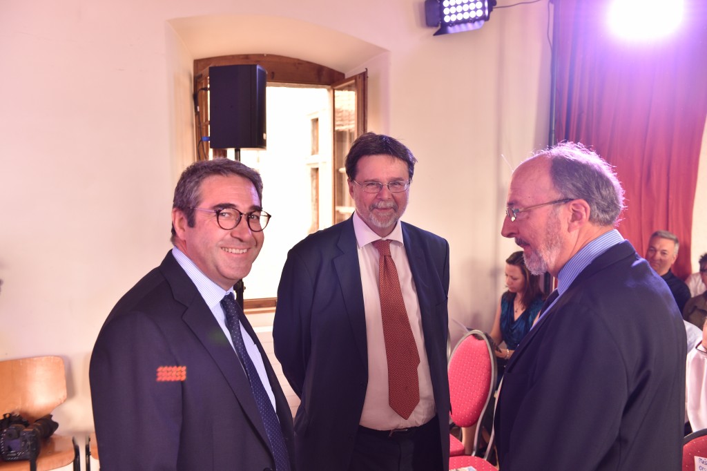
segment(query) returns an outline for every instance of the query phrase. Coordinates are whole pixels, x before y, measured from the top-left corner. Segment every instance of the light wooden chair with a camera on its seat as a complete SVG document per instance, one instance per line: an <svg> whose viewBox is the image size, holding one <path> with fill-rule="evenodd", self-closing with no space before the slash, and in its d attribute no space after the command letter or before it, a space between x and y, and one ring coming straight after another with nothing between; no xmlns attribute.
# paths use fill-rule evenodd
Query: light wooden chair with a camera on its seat
<svg viewBox="0 0 707 471"><path fill-rule="evenodd" d="M0 361L0 414L20 414L32 423L66 400L66 373L59 356ZM61 424L59 424L61 426ZM54 434L42 442L37 471L73 465L79 471L74 437ZM0 471L29 470L29 461L2 461Z"/></svg>

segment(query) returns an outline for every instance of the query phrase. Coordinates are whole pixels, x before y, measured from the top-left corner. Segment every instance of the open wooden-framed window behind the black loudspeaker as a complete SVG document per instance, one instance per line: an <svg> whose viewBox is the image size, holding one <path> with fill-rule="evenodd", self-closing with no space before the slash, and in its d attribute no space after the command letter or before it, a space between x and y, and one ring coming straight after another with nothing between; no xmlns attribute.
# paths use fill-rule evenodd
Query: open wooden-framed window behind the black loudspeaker
<svg viewBox="0 0 707 471"><path fill-rule="evenodd" d="M203 139L209 135L209 67L235 64L259 64L267 71L267 150L210 149L209 141ZM197 160L239 158L263 175L263 206L274 217L267 228L265 248L244 279L244 298L247 310L272 308L291 246L308 233L347 219L353 211L346 173L341 169L349 146L366 129L366 73L344 78L325 66L271 54L212 57L194 61L194 91L199 110L195 119ZM317 98L321 93L323 102ZM306 98L296 98L300 96ZM287 108L303 103L294 105L301 119L289 117L289 109L278 110L277 103ZM285 127L288 132L295 128L296 135L278 144L276 134L283 132L278 129ZM276 155L284 159L281 166L274 164Z"/></svg>

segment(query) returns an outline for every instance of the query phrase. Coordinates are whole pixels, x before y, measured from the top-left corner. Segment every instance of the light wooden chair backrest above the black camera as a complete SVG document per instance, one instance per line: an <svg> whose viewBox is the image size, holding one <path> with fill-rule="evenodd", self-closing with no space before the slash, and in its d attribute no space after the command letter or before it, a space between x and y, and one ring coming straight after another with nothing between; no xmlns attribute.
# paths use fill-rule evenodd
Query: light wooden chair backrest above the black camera
<svg viewBox="0 0 707 471"><path fill-rule="evenodd" d="M0 414L12 412L33 422L65 400L66 376L61 357L0 361Z"/></svg>

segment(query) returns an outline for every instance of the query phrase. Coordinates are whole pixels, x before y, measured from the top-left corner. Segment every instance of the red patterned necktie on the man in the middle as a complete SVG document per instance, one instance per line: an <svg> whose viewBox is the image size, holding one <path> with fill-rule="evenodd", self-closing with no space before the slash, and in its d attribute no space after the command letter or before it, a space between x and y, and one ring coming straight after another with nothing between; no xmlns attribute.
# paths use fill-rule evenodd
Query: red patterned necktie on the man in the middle
<svg viewBox="0 0 707 471"><path fill-rule="evenodd" d="M417 378L420 356L407 318L395 262L390 256L390 240L375 240L373 246L380 254L378 292L388 361L390 408L407 419L420 402Z"/></svg>

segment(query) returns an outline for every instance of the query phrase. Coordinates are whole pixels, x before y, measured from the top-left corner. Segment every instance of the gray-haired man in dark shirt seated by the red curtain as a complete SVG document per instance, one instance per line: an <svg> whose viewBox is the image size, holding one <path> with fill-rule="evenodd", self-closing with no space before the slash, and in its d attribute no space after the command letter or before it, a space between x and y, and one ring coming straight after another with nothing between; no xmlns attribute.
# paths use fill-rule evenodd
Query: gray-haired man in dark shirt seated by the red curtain
<svg viewBox="0 0 707 471"><path fill-rule="evenodd" d="M645 250L645 260L655 270L672 293L677 303L677 308L682 313L685 303L690 298L690 289L682 279L676 277L670 267L677 260L677 251L680 243L677 236L669 231L655 231L648 240L648 249Z"/></svg>

